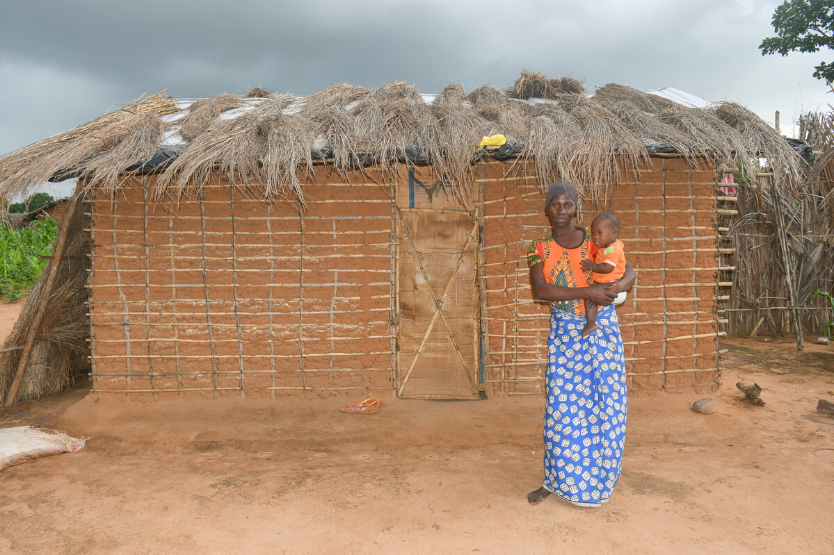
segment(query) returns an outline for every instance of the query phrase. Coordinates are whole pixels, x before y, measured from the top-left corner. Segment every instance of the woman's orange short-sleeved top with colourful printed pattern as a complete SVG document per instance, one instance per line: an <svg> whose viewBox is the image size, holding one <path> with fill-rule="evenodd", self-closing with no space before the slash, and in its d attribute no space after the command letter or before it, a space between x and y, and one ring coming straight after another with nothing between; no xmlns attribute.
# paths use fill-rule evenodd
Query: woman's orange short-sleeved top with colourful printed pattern
<svg viewBox="0 0 834 555"><path fill-rule="evenodd" d="M594 283L590 271L582 270L582 259L591 258L597 248L590 241L590 228L585 228L585 240L577 248L564 248L553 239L550 233L547 237L536 239L527 249L527 264L533 268L537 263L545 263L545 280L553 285L564 288L586 288ZM554 301L550 303L551 310L582 316L585 314L585 303L577 298L568 301Z"/></svg>

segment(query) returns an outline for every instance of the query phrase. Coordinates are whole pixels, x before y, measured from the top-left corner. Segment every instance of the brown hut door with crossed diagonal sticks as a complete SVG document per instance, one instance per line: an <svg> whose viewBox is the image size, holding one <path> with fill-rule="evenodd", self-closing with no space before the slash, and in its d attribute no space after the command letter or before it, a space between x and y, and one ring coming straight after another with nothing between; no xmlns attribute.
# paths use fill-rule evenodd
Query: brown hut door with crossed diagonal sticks
<svg viewBox="0 0 834 555"><path fill-rule="evenodd" d="M480 398L475 218L452 209L397 213L397 396Z"/></svg>

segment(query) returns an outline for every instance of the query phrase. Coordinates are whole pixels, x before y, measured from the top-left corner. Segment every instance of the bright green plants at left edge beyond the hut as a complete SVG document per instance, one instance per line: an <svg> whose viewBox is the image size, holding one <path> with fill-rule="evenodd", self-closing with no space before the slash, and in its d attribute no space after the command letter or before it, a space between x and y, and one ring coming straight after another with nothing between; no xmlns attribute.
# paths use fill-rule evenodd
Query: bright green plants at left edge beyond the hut
<svg viewBox="0 0 834 555"><path fill-rule="evenodd" d="M58 224L51 218L35 221L28 228L0 225L0 298L13 303L22 298L38 281L48 263Z"/></svg>

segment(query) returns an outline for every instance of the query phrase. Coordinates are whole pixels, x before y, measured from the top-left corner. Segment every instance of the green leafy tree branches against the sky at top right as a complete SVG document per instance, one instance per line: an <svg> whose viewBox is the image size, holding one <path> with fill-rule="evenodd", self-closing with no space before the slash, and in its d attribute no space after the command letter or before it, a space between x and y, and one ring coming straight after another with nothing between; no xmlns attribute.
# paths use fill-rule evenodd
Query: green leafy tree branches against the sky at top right
<svg viewBox="0 0 834 555"><path fill-rule="evenodd" d="M776 37L761 41L761 55L790 52L817 52L834 49L834 1L790 0L776 7L771 25ZM834 82L834 63L821 62L814 77Z"/></svg>

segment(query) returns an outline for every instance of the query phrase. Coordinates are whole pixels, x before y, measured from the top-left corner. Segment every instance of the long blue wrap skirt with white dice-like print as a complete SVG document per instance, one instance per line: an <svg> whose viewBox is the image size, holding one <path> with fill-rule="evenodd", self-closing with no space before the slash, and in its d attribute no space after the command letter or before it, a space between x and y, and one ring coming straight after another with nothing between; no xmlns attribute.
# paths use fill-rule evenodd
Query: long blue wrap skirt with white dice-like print
<svg viewBox="0 0 834 555"><path fill-rule="evenodd" d="M550 317L545 412L545 481L575 505L608 501L625 443L625 356L614 307L600 307L599 328L582 337L585 317Z"/></svg>

